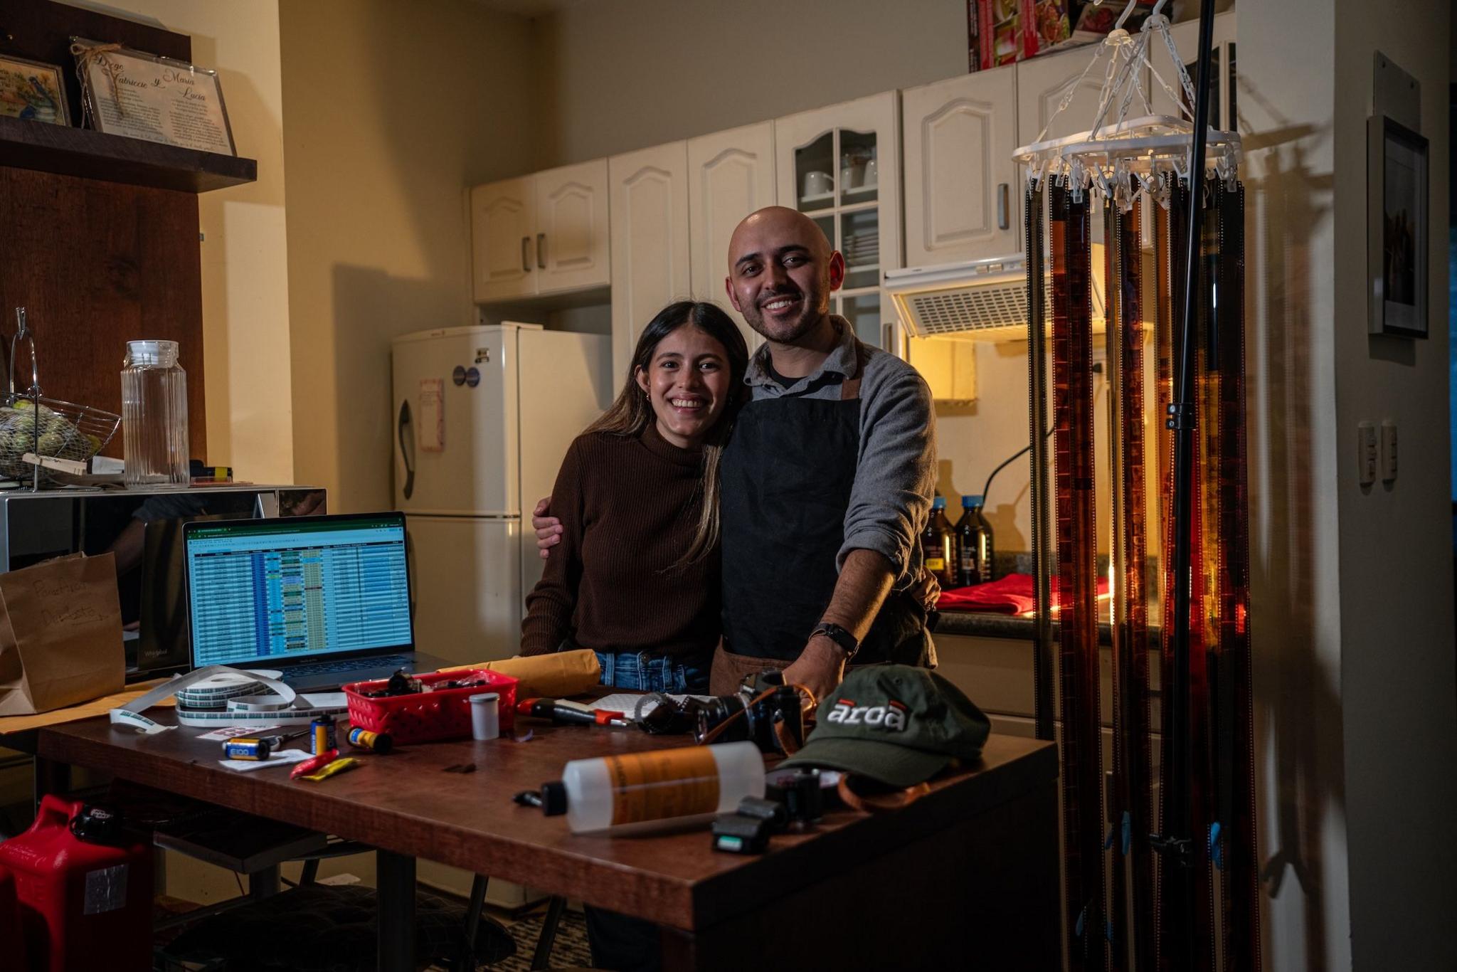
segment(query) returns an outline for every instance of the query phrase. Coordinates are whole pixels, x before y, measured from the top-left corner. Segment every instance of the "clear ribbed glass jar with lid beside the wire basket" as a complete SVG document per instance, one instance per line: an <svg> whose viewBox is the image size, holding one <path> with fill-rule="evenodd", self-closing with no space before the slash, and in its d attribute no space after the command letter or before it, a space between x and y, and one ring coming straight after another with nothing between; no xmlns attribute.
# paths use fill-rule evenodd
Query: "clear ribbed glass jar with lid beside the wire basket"
<svg viewBox="0 0 1457 972"><path fill-rule="evenodd" d="M121 439L128 487L191 482L186 372L176 341L128 341L121 369Z"/></svg>

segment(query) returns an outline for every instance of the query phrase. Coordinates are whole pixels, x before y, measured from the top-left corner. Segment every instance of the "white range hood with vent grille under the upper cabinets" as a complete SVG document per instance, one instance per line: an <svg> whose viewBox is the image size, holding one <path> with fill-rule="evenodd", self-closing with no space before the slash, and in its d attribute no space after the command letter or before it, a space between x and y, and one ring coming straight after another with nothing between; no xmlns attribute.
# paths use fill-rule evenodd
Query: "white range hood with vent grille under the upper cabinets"
<svg viewBox="0 0 1457 972"><path fill-rule="evenodd" d="M1091 264L1093 324L1094 329L1101 329L1101 243L1093 245ZM1023 254L887 270L884 290L909 337L965 341L1027 338L1027 258Z"/></svg>

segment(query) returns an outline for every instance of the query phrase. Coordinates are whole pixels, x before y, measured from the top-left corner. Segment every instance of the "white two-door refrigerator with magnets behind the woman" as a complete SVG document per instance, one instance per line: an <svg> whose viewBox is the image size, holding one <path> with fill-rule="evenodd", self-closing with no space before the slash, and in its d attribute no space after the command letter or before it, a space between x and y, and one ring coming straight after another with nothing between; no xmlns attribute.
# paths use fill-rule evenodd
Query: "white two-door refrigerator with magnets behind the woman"
<svg viewBox="0 0 1457 972"><path fill-rule="evenodd" d="M530 510L610 404L610 338L500 324L407 334L392 350L415 644L460 663L508 657L542 574Z"/></svg>

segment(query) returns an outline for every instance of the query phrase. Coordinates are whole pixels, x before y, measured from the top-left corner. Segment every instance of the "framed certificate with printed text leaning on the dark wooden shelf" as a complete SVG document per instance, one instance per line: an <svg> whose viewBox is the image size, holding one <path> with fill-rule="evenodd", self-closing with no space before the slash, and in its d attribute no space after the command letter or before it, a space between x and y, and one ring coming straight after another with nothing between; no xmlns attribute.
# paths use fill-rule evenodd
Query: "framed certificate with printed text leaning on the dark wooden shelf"
<svg viewBox="0 0 1457 972"><path fill-rule="evenodd" d="M217 71L82 38L71 52L96 131L237 154Z"/></svg>

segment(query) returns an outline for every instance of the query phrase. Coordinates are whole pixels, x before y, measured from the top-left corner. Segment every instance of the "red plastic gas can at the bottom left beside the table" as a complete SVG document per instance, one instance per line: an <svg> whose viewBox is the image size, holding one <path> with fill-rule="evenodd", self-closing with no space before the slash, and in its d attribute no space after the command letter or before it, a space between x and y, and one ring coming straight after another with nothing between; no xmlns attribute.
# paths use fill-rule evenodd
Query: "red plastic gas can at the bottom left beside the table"
<svg viewBox="0 0 1457 972"><path fill-rule="evenodd" d="M152 968L152 848L124 836L83 841L80 803L52 796L20 836L0 844L15 876L31 968L45 972L146 972ZM80 820L89 834L103 812Z"/></svg>

